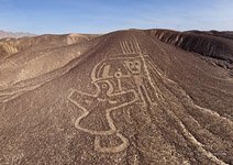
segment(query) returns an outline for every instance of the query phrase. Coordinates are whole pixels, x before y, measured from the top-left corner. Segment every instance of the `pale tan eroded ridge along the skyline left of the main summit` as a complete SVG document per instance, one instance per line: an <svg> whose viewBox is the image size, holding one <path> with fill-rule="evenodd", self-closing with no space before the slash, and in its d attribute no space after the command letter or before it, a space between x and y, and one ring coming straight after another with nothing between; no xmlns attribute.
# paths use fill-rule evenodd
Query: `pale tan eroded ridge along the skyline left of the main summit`
<svg viewBox="0 0 233 165"><path fill-rule="evenodd" d="M86 34L64 34L64 35L40 35L40 36L24 36L20 38L2 38L0 40L0 59L7 58L13 54L20 54L23 52L24 56L26 52L40 52L45 50L52 50L56 47L67 46L74 43L80 43L88 41L98 35Z"/></svg>

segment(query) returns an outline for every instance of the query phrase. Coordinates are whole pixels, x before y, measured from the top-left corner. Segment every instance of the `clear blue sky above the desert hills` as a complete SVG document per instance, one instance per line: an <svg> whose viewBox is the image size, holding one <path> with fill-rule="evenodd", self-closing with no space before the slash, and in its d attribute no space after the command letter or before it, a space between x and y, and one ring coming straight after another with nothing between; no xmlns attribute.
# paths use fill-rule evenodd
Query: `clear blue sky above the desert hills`
<svg viewBox="0 0 233 165"><path fill-rule="evenodd" d="M0 30L108 33L125 29L233 31L233 0L0 0Z"/></svg>

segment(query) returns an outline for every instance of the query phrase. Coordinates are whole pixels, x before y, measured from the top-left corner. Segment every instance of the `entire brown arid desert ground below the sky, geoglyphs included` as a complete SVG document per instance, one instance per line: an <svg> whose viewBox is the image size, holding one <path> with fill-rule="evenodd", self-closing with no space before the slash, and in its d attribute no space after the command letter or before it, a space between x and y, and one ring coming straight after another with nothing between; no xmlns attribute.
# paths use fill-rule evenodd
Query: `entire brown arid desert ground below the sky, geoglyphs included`
<svg viewBox="0 0 233 165"><path fill-rule="evenodd" d="M232 165L232 34L0 40L0 148L2 165Z"/></svg>

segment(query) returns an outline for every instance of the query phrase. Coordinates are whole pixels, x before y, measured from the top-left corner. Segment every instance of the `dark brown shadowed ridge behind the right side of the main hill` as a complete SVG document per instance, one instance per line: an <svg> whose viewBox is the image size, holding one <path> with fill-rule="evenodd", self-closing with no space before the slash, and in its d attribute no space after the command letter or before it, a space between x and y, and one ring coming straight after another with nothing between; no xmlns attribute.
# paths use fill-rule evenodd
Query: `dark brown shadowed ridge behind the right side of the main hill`
<svg viewBox="0 0 233 165"><path fill-rule="evenodd" d="M148 30L152 37L175 45L188 52L213 57L223 67L232 67L233 64L233 33L231 32L176 32L169 30ZM229 65L231 64L231 65Z"/></svg>

